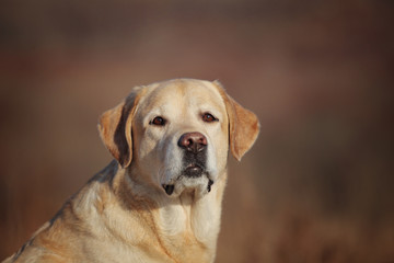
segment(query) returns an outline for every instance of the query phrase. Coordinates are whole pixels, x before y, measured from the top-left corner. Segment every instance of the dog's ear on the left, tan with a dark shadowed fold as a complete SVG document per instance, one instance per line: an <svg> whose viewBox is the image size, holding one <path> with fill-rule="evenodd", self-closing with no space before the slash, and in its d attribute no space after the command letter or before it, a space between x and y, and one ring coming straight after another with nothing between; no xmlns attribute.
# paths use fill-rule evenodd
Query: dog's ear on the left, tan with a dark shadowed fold
<svg viewBox="0 0 394 263"><path fill-rule="evenodd" d="M100 136L123 168L128 167L132 159L131 123L139 101L139 88L124 102L103 113L99 122Z"/></svg>

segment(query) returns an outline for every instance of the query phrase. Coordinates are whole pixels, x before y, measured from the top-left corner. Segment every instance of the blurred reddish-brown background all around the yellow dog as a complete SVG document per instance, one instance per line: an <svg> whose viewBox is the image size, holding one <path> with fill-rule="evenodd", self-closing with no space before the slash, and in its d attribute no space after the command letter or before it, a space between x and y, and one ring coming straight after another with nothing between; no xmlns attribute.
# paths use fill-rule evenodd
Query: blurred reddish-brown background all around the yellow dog
<svg viewBox="0 0 394 263"><path fill-rule="evenodd" d="M230 158L217 262L394 262L394 3L4 0L0 259L109 162L130 89L219 79L262 132Z"/></svg>

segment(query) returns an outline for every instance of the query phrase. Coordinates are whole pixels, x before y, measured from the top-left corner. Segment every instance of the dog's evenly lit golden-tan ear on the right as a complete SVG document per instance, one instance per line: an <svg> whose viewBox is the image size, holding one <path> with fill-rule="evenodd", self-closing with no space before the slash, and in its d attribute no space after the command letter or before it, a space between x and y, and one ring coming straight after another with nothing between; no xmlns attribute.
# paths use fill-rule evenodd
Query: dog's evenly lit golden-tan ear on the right
<svg viewBox="0 0 394 263"><path fill-rule="evenodd" d="M255 142L259 133L257 116L241 106L229 94L219 81L213 81L222 95L229 116L230 149L233 157L241 161L241 158L248 151Z"/></svg>

